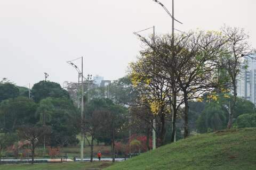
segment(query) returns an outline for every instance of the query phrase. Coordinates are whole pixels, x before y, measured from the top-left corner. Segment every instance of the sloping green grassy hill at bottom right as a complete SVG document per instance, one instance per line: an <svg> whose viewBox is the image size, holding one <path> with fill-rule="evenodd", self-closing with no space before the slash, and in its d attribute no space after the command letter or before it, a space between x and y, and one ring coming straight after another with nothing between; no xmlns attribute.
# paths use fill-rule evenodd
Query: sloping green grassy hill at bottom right
<svg viewBox="0 0 256 170"><path fill-rule="evenodd" d="M256 169L256 128L201 134L146 152L115 169Z"/></svg>

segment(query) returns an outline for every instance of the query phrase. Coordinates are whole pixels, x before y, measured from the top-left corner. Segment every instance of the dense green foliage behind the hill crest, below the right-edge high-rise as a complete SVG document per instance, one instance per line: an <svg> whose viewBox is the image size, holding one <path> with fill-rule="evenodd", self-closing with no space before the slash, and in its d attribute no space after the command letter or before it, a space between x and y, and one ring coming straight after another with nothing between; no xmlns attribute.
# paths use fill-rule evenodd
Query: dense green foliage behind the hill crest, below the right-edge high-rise
<svg viewBox="0 0 256 170"><path fill-rule="evenodd" d="M214 100L204 100L202 103L194 103L197 107L190 108L191 116L196 118L196 128L194 129L197 132L205 133L218 131L226 128L228 123L228 112L229 112L229 100L233 96L230 95L230 98L225 98L223 95L219 95L220 97ZM206 97L207 98L207 97ZM191 103L192 104L192 103ZM201 108L201 109L198 109ZM237 98L236 107L234 109L234 120L237 122L243 122L244 125L240 125L238 127L241 128L249 128L254 127L252 123L249 122L249 118L245 118L247 116L243 116L244 114L256 115L255 106L251 101ZM238 119L238 117L240 117ZM192 119L193 120L193 119ZM246 126L245 126L246 124ZM237 123L236 123L237 126Z"/></svg>

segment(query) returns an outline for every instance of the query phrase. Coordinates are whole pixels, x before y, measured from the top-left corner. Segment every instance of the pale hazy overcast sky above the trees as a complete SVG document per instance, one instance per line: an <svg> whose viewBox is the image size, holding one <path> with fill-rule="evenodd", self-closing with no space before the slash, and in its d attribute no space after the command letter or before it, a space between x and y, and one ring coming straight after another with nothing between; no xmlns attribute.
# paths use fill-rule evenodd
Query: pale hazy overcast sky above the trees
<svg viewBox="0 0 256 170"><path fill-rule="evenodd" d="M160 1L171 11L171 0ZM242 27L254 48L255 16L255 0L175 0L183 22L175 28ZM47 72L50 81L77 81L66 61L81 56L85 75L121 78L140 50L132 32L153 25L156 33L171 32L170 16L152 0L0 0L0 79L28 86Z"/></svg>

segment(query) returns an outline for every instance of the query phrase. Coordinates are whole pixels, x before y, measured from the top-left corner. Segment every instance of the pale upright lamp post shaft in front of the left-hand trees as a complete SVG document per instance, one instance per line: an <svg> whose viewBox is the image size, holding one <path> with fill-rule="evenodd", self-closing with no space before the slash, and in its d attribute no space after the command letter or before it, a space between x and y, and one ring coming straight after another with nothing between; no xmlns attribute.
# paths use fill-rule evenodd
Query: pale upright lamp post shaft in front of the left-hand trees
<svg viewBox="0 0 256 170"><path fill-rule="evenodd" d="M84 73L83 73L83 57L82 57L82 99L81 99L81 162L84 161Z"/></svg>

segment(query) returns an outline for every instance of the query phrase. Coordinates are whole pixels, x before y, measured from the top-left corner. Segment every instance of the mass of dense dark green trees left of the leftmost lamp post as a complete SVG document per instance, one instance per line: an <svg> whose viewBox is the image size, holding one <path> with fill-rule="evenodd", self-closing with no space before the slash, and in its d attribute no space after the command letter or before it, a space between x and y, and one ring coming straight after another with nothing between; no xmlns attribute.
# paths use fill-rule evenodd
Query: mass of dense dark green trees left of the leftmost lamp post
<svg viewBox="0 0 256 170"><path fill-rule="evenodd" d="M0 133L15 133L24 125L46 125L52 129L51 138L46 140L46 145L67 146L78 143L76 117L79 117L79 113L69 99L68 92L58 83L36 83L29 99L27 88L16 87L9 81L1 82L0 96L4 100L0 103Z"/></svg>

